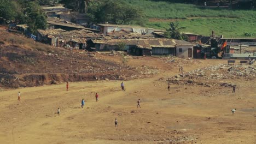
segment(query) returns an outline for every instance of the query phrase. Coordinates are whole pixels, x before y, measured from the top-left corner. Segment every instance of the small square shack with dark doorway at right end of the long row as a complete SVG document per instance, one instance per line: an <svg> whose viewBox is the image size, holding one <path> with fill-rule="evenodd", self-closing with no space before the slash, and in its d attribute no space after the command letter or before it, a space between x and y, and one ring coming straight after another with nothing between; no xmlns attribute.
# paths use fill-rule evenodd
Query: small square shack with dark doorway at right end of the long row
<svg viewBox="0 0 256 144"><path fill-rule="evenodd" d="M176 41L176 56L181 58L193 58L193 47L192 43L184 40Z"/></svg>

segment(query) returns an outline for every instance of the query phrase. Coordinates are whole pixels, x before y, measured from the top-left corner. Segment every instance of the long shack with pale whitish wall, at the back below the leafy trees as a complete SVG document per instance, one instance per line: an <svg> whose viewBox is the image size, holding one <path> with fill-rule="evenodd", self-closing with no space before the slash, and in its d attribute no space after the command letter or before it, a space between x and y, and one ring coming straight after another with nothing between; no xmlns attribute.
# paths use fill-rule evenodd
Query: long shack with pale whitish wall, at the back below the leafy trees
<svg viewBox="0 0 256 144"><path fill-rule="evenodd" d="M110 32L117 32L121 30L124 30L127 32L133 32L133 33L139 33L142 35L153 33L153 28L144 28L140 26L129 26L129 25L97 24L95 28L100 30L104 35L107 35Z"/></svg>

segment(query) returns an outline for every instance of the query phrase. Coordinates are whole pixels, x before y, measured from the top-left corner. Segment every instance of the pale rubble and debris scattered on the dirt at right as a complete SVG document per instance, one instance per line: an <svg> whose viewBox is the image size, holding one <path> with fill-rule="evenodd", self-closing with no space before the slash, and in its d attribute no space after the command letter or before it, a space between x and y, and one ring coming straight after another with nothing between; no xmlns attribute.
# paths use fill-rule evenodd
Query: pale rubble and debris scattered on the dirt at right
<svg viewBox="0 0 256 144"><path fill-rule="evenodd" d="M224 79L253 80L256 76L256 68L247 65L218 64L210 67L189 71L179 74L170 79L161 78L161 81L169 80L178 85L202 85L207 87L222 86L232 87L231 83L219 83ZM213 80L209 82L208 80ZM214 81L217 80L217 81Z"/></svg>

